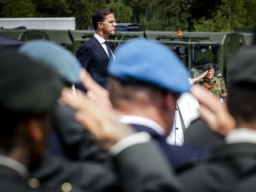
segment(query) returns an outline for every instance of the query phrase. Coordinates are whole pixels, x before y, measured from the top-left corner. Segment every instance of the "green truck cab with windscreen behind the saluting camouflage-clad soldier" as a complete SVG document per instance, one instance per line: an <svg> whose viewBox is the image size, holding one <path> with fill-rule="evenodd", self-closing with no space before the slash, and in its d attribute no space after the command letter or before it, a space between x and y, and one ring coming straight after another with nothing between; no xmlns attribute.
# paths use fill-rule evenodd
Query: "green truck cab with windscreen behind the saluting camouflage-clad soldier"
<svg viewBox="0 0 256 192"><path fill-rule="evenodd" d="M221 77L220 44L205 36L157 36L156 40L176 52L192 78L203 73L207 63L215 65L215 76Z"/></svg>

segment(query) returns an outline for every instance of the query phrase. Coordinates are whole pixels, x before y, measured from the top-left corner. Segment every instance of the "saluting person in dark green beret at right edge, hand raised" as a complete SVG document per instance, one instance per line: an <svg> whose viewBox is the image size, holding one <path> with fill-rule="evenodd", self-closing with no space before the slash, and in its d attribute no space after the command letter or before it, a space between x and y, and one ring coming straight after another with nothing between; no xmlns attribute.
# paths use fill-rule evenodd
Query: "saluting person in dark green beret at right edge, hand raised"
<svg viewBox="0 0 256 192"><path fill-rule="evenodd" d="M202 118L226 136L227 144L213 149L198 166L179 173L186 191L255 191L255 64L256 48L242 50L230 62L226 106L198 88L192 90L203 106Z"/></svg>

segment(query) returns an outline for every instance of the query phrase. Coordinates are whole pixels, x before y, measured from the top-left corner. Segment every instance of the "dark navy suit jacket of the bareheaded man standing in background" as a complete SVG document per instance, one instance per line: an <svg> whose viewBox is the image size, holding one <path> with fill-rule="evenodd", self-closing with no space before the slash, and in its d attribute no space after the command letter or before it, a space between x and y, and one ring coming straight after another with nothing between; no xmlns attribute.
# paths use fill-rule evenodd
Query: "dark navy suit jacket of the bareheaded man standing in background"
<svg viewBox="0 0 256 192"><path fill-rule="evenodd" d="M106 82L108 81L107 67L109 57L99 41L93 36L77 49L76 56L82 67L90 73L98 84L105 88ZM80 85L76 85L75 87L84 91L84 88Z"/></svg>

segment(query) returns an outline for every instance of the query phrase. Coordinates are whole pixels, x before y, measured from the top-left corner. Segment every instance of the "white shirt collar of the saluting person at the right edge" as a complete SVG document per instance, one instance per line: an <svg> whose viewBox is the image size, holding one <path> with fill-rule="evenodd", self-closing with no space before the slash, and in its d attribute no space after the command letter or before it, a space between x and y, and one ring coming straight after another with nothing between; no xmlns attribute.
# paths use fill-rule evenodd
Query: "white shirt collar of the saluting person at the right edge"
<svg viewBox="0 0 256 192"><path fill-rule="evenodd" d="M255 143L256 130L249 128L236 128L231 131L225 138L226 143Z"/></svg>

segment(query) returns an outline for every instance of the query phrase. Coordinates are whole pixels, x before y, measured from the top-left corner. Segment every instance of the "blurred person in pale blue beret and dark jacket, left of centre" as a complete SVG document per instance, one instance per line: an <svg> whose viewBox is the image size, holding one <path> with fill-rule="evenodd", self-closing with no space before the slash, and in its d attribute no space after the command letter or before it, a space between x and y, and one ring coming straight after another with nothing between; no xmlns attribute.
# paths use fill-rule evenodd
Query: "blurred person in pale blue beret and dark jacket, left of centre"
<svg viewBox="0 0 256 192"><path fill-rule="evenodd" d="M28 41L20 46L19 52L55 70L66 88L80 82L80 62L57 43ZM47 153L33 177L45 183L68 186L72 191L116 190L118 181L111 157L96 146L92 135L74 119L74 114L74 109L59 98L53 111Z"/></svg>

